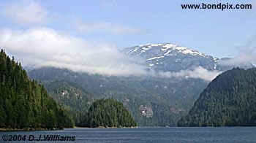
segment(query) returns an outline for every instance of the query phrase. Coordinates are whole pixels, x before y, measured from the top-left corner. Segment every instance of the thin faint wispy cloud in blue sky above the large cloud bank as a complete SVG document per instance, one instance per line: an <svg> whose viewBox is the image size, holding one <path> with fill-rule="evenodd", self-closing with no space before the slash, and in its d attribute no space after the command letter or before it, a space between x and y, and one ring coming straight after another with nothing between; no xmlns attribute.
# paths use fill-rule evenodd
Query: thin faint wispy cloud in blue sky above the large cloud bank
<svg viewBox="0 0 256 143"><path fill-rule="evenodd" d="M143 28L135 28L131 26L123 26L116 23L87 23L85 21L76 20L72 23L80 32L105 32L108 34L146 34L148 31Z"/></svg>

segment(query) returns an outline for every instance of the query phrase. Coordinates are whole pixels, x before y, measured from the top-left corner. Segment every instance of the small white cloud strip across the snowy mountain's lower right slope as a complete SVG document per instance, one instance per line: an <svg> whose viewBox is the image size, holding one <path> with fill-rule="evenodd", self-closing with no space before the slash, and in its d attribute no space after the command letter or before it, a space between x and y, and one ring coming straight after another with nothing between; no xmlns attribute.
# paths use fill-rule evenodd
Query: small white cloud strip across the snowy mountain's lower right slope
<svg viewBox="0 0 256 143"><path fill-rule="evenodd" d="M221 71L208 71L201 66L196 67L193 70L181 70L178 72L159 72L158 75L160 77L189 77L189 78L199 78L203 80L214 80L217 75L219 75Z"/></svg>

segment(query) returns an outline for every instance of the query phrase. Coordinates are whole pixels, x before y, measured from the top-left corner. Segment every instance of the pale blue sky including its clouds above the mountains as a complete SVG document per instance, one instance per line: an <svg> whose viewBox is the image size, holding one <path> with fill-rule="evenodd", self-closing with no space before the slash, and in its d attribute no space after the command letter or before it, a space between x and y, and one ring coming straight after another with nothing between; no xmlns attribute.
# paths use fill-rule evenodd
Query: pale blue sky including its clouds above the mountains
<svg viewBox="0 0 256 143"><path fill-rule="evenodd" d="M252 9L181 9L202 2L252 4ZM145 67L121 57L118 49L166 42L234 58L227 64L256 63L255 5L255 0L0 0L0 47L23 64L92 73L121 74L136 66L143 74Z"/></svg>

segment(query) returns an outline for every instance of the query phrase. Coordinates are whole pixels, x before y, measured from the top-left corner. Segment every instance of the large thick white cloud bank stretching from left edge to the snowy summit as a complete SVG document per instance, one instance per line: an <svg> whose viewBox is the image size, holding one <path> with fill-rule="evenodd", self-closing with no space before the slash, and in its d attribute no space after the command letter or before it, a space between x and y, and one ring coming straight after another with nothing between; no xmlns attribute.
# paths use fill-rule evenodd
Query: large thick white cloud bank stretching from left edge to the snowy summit
<svg viewBox="0 0 256 143"><path fill-rule="evenodd" d="M107 75L146 74L144 66L124 58L112 45L86 42L50 28L2 30L0 46L25 66L57 66Z"/></svg>

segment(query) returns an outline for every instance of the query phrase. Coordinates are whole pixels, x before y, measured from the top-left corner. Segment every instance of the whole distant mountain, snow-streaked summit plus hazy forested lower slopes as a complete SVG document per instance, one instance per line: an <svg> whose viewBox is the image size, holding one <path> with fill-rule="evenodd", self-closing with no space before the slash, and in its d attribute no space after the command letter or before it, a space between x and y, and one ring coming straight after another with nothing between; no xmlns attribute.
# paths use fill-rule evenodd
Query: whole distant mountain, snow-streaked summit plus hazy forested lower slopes
<svg viewBox="0 0 256 143"><path fill-rule="evenodd" d="M228 58L214 58L211 55L169 43L127 47L122 49L121 53L135 62L147 66L148 70L154 69L155 71L190 71L197 67L202 67L208 71L225 71L234 67L232 65L222 66L222 62L227 61ZM251 64L248 65L242 66L245 68L252 67ZM196 74L200 74L200 72ZM59 96L56 98L56 93L54 93L56 91L50 87L58 84L58 82L65 81L69 84L79 85L79 89L75 88L76 90L88 92L95 99L114 98L121 101L140 126L176 126L178 120L189 112L208 84L206 80L189 78L186 75L170 78L154 76L116 77L54 67L31 70L29 76L42 82L50 92L50 96L69 109L75 109L75 107L87 109L89 104L82 104L80 99L77 98L78 101L75 101L74 98L71 105L65 97L61 98L61 90L59 90ZM65 103L64 100L66 100ZM93 100L87 98L83 103L90 103L91 101ZM80 120L77 115L75 118Z"/></svg>

